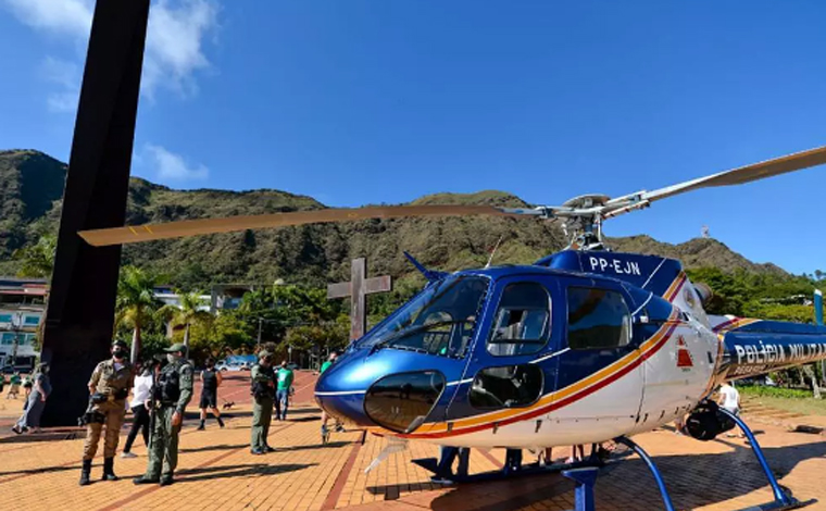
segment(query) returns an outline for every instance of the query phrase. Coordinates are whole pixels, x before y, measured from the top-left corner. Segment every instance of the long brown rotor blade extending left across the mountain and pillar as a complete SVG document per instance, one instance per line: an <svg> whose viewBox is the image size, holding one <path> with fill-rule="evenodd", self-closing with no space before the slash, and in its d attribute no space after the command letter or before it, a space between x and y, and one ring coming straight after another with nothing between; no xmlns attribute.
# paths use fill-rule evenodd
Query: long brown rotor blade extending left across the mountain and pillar
<svg viewBox="0 0 826 511"><path fill-rule="evenodd" d="M490 216L513 216L518 214L541 215L539 211L535 210L493 208L490 205L388 205L297 211L292 213L229 216L226 219L184 220L163 224L83 230L79 235L89 245L95 247L105 247L110 245L135 244L155 239L285 227L289 225L350 222L366 219L399 219L402 216L464 216L477 214Z"/></svg>

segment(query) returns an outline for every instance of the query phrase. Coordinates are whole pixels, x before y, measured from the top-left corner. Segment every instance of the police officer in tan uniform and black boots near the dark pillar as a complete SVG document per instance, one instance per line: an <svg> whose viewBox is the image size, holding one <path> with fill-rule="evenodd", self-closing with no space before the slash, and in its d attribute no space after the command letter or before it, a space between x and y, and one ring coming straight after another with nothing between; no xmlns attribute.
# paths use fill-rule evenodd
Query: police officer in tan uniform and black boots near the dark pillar
<svg viewBox="0 0 826 511"><path fill-rule="evenodd" d="M84 462L80 469L80 486L89 484L91 460L98 452L98 441L103 425L103 481L117 481L114 457L117 437L126 413L126 398L134 383L132 364L127 359L128 346L123 340L112 345L112 358L99 363L89 378L89 409L87 410Z"/></svg>

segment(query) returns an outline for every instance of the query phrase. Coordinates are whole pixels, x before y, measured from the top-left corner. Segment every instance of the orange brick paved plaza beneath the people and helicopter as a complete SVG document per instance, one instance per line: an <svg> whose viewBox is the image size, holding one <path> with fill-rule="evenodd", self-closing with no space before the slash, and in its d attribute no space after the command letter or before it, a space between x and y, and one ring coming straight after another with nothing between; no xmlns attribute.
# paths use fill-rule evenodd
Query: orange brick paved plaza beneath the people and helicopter
<svg viewBox="0 0 826 511"><path fill-rule="evenodd" d="M248 373L234 373L221 397L235 401L226 429L210 421L197 432L190 408L182 433L178 483L171 487L136 487L129 481L146 468L146 449L138 439L137 459L117 459L122 481L77 486L83 439L65 439L76 432L42 436L15 436L9 427L22 401L0 400L0 495L3 509L115 510L564 510L573 508L573 484L556 474L510 482L467 484L441 488L428 474L410 463L412 458L434 457L437 449L412 444L406 452L390 457L378 469L364 469L385 440L361 432L334 434L331 444L320 445L320 411L312 402L314 377L299 373L296 406L286 423L275 422L271 445L277 451L265 457L249 452L250 406ZM197 400L196 400L197 401ZM815 422L822 417L810 422ZM802 499L818 499L806 509L826 509L826 443L819 435L788 433L768 421L752 421L761 445L783 485ZM125 435L126 431L124 431ZM364 444L362 444L364 438ZM700 443L669 431L637 437L655 458L678 509L735 510L772 499L756 460L743 440L722 438ZM123 439L122 439L123 443ZM100 452L99 452L100 456ZM558 449L555 457L567 456ZM501 466L503 452L474 450L472 472ZM92 475L100 477L96 460ZM610 464L597 483L599 510L662 509L653 478L635 456Z"/></svg>

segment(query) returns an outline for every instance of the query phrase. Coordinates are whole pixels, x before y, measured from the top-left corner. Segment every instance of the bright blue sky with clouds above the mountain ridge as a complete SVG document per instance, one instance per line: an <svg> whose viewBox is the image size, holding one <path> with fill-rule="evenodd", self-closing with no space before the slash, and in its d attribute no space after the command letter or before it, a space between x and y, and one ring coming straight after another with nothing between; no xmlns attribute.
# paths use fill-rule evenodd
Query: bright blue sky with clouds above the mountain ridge
<svg viewBox="0 0 826 511"><path fill-rule="evenodd" d="M67 161L91 0L0 0L0 148ZM826 3L153 0L133 174L328 205L620 196L826 145ZM606 225L826 270L826 166Z"/></svg>

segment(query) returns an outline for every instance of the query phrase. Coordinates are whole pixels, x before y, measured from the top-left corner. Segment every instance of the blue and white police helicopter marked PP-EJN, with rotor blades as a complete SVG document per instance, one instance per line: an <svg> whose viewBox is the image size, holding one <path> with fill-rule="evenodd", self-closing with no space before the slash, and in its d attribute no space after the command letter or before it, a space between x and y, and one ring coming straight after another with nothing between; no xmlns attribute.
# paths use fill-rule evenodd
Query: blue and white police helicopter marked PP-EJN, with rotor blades
<svg viewBox="0 0 826 511"><path fill-rule="evenodd" d="M706 314L703 304L711 291L692 284L679 261L612 252L603 244L602 224L686 191L823 163L826 147L653 191L613 199L588 195L527 210L327 209L80 235L105 246L374 217L560 220L570 247L531 265L447 274L411 258L428 285L355 339L322 375L315 389L318 404L347 424L395 438L390 449L406 440L539 450L620 439L647 457L629 436L688 415L687 432L705 440L736 422L767 470L748 427L709 398L723 382L826 359L826 327ZM436 470L435 463L423 464ZM662 483L655 470L654 475ZM769 471L767 476L775 489L774 509L800 504Z"/></svg>

